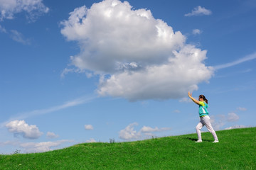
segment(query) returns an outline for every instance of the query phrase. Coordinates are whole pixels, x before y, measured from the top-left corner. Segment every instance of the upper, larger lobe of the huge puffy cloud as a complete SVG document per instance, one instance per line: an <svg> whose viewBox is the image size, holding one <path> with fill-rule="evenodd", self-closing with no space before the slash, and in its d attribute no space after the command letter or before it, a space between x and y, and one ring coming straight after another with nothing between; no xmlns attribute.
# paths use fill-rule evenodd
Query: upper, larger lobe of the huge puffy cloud
<svg viewBox="0 0 256 170"><path fill-rule="evenodd" d="M183 44L185 37L156 20L151 11L131 8L127 1L117 0L102 1L90 9L75 8L61 30L68 40L80 42L81 53L72 57L73 64L116 72L125 63L166 62L170 52Z"/></svg>

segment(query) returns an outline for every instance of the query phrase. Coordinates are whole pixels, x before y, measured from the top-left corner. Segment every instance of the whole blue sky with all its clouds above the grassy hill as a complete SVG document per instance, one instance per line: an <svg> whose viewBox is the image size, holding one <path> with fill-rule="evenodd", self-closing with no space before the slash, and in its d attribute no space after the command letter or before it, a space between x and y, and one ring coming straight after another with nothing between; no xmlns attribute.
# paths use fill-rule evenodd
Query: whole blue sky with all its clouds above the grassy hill
<svg viewBox="0 0 256 170"><path fill-rule="evenodd" d="M255 126L255 1L0 0L0 11L1 154L194 133L188 91L208 98L215 130Z"/></svg>

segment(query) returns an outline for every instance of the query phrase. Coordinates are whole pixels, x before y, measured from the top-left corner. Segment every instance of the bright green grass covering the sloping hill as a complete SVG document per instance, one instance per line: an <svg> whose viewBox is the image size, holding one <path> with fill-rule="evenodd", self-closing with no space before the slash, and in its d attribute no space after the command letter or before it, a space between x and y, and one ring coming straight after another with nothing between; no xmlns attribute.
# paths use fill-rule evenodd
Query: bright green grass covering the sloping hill
<svg viewBox="0 0 256 170"><path fill-rule="evenodd" d="M36 154L0 155L0 169L256 169L256 128L161 137L137 142L85 143Z"/></svg>

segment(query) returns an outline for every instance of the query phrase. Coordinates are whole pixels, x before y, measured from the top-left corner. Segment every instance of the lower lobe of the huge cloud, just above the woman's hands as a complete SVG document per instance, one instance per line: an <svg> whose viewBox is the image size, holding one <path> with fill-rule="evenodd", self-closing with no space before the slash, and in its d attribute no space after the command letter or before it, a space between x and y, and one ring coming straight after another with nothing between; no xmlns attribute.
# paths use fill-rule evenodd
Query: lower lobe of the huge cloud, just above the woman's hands
<svg viewBox="0 0 256 170"><path fill-rule="evenodd" d="M201 63L205 54L188 45L166 64L112 74L100 81L98 93L131 101L181 98L187 91L197 90L197 84L211 76L212 70Z"/></svg>

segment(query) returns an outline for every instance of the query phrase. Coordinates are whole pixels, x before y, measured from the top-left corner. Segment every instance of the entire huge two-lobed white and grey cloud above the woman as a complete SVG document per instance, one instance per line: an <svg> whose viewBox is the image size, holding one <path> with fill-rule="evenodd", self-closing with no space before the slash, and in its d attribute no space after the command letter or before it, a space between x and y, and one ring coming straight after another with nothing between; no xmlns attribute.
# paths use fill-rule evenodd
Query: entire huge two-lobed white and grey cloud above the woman
<svg viewBox="0 0 256 170"><path fill-rule="evenodd" d="M203 63L206 50L187 45L181 32L127 1L75 8L62 24L61 33L80 45L71 63L102 75L97 89L102 96L181 98L213 74Z"/></svg>

